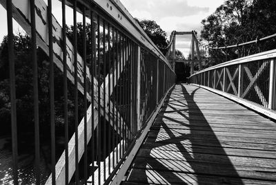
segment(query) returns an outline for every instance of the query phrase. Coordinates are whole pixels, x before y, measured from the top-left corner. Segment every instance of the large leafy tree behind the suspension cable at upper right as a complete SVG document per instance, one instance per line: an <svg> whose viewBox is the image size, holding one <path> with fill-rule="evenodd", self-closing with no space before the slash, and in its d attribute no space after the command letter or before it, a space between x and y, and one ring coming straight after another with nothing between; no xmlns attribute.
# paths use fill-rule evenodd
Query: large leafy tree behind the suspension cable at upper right
<svg viewBox="0 0 276 185"><path fill-rule="evenodd" d="M202 20L201 37L212 47L235 45L262 38L276 32L276 1L227 0ZM275 40L228 50L210 50L213 64L259 51L275 48Z"/></svg>

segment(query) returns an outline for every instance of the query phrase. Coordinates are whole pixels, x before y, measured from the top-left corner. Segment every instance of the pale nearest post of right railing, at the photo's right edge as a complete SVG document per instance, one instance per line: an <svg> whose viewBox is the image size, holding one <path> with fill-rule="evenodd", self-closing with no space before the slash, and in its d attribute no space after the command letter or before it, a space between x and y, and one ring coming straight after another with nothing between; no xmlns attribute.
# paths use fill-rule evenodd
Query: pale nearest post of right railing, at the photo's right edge
<svg viewBox="0 0 276 185"><path fill-rule="evenodd" d="M270 60L268 109L275 108L275 59Z"/></svg>

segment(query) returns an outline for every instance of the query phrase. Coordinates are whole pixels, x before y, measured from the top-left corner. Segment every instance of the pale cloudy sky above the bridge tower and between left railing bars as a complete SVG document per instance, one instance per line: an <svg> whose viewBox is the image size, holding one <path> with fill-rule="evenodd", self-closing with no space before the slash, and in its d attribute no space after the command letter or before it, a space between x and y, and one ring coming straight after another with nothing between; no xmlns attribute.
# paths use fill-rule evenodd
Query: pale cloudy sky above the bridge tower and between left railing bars
<svg viewBox="0 0 276 185"><path fill-rule="evenodd" d="M44 0L46 1L46 0ZM120 0L132 17L139 20L150 19L157 22L167 32L168 39L172 30L189 32L195 30L200 36L201 20L215 12L224 0ZM67 11L72 11L68 9ZM53 1L53 14L61 21L61 3ZM70 13L68 13L70 14ZM69 18L70 19L70 18ZM79 17L81 21L81 17ZM15 22L15 21L14 21ZM0 5L0 41L8 33L6 10ZM72 24L72 23L71 23ZM14 23L14 33L21 30ZM177 36L176 48L188 56L191 36Z"/></svg>

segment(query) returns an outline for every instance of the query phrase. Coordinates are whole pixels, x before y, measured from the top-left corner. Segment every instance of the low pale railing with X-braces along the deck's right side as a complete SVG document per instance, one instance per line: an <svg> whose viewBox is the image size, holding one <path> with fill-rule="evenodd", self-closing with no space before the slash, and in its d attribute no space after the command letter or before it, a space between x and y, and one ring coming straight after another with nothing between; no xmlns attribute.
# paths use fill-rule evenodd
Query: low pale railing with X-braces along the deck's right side
<svg viewBox="0 0 276 185"><path fill-rule="evenodd" d="M190 84L215 91L275 119L275 59L276 50L238 58L191 75Z"/></svg>

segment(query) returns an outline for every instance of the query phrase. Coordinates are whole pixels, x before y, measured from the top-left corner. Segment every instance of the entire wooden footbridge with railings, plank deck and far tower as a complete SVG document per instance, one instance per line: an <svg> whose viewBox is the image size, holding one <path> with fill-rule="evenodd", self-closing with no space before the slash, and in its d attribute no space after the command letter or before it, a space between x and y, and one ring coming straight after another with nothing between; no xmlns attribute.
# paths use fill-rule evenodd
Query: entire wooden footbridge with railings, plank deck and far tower
<svg viewBox="0 0 276 185"><path fill-rule="evenodd" d="M51 0L0 3L10 92L0 184L276 183L276 50L207 69L191 58L189 83L177 84L120 1L61 0L60 17ZM14 23L28 35L30 81L19 79ZM194 31L173 32L168 51L177 34L198 47ZM26 133L22 83L32 107Z"/></svg>

